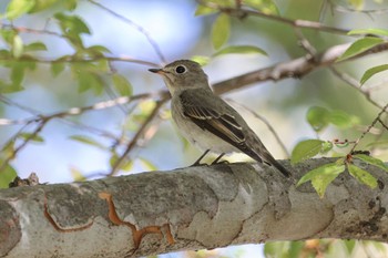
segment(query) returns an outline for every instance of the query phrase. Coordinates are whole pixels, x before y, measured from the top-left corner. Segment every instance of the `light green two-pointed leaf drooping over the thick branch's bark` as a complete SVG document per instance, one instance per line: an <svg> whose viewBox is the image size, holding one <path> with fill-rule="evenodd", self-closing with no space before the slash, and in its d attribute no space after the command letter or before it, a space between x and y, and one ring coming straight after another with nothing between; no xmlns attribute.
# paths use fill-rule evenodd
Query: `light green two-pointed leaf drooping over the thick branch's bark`
<svg viewBox="0 0 388 258"><path fill-rule="evenodd" d="M319 197L323 198L327 186L344 171L344 164L326 164L305 174L297 183L297 186L310 180L314 189L317 192Z"/></svg>

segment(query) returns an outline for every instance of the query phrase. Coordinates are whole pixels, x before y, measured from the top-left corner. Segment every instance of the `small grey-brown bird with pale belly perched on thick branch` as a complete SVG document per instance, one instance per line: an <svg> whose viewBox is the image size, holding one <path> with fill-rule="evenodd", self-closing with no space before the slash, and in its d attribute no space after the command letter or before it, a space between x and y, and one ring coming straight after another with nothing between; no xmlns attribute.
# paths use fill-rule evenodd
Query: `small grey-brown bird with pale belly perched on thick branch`
<svg viewBox="0 0 388 258"><path fill-rule="evenodd" d="M275 166L286 177L290 173L266 149L262 141L249 128L244 118L225 101L215 95L207 82L207 75L200 64L178 60L163 69L150 69L161 74L172 95L171 110L181 133L205 153L221 154L243 152L259 163Z"/></svg>

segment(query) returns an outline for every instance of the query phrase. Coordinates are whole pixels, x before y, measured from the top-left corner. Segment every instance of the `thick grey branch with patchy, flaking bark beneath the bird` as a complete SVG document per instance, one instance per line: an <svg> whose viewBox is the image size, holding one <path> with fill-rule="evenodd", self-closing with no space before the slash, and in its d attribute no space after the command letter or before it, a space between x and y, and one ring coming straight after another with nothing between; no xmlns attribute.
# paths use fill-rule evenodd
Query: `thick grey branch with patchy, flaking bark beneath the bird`
<svg viewBox="0 0 388 258"><path fill-rule="evenodd" d="M388 174L370 189L343 173L320 199L257 164L198 166L0 192L0 257L137 257L269 240L387 241ZM283 164L290 168L287 162Z"/></svg>

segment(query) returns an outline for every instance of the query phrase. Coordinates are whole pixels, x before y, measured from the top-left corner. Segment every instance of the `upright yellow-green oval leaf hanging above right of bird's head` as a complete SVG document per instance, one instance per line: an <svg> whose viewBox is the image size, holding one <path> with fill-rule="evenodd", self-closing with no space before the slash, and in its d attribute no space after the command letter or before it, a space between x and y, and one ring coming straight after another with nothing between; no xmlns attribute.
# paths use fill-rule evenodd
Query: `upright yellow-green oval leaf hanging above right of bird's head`
<svg viewBox="0 0 388 258"><path fill-rule="evenodd" d="M212 42L214 49L219 49L229 38L231 20L225 13L218 14L212 28Z"/></svg>

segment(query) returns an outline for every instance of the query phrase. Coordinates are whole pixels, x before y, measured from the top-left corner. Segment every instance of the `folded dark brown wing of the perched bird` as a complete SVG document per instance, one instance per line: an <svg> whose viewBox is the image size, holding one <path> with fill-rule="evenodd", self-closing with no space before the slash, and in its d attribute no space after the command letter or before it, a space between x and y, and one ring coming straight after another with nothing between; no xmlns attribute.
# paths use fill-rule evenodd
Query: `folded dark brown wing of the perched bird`
<svg viewBox="0 0 388 258"><path fill-rule="evenodd" d="M201 90L186 90L181 93L183 114L191 118L197 126L210 131L214 135L246 153L245 135L243 127L231 112L225 112L218 104L221 99L205 97L208 92ZM211 93L213 94L213 93ZM218 102L218 103L217 103ZM223 101L222 101L223 102ZM248 154L249 155L249 154Z"/></svg>

